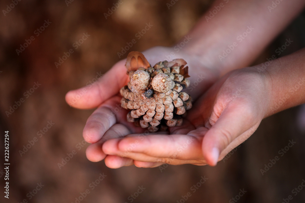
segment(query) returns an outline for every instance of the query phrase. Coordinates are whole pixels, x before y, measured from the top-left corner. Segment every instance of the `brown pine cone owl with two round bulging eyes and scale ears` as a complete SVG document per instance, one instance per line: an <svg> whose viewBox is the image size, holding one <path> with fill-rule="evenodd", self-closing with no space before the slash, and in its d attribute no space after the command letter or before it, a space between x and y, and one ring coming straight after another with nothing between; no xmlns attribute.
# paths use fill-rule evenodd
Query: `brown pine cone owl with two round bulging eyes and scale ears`
<svg viewBox="0 0 305 203"><path fill-rule="evenodd" d="M186 64L174 59L151 67L142 53L130 52L125 64L130 82L120 89L121 106L131 110L127 121L150 132L181 126L186 110L192 108L191 97L181 92L190 85Z"/></svg>

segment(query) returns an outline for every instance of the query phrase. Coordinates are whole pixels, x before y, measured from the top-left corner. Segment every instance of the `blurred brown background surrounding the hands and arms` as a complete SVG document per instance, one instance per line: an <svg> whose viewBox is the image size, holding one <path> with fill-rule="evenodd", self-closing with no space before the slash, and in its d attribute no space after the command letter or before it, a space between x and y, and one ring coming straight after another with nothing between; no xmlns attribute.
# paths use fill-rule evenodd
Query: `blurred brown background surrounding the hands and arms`
<svg viewBox="0 0 305 203"><path fill-rule="evenodd" d="M171 46L196 23L208 9L210 1L179 0L170 9L167 1L126 0L108 19L103 13L117 1L30 0L18 2L0 20L0 137L1 160L4 159L4 131L10 138L10 199L3 196L4 176L0 178L1 202L75 202L81 192L90 189L81 202L131 202L128 196L146 189L133 202L177 202L181 195L191 192L188 202L228 202L239 193L247 192L238 202L282 202L291 195L294 187L305 178L305 131L300 107L295 107L265 119L259 129L225 162L217 167L168 166L143 169L135 166L109 169L103 162L91 163L85 157L86 144L80 150L77 143L83 140L82 129L93 110L70 108L65 93L92 81L97 73L105 73L119 58L117 52L126 42L136 39L135 34L151 23L153 27L131 48L143 51L156 45ZM6 9L11 1L1 1ZM19 56L16 49L44 20L52 22ZM292 53L305 44L304 15L299 16L255 62L260 63L274 54L286 38L294 42L281 56ZM58 62L81 39L90 37L56 68ZM124 55L126 57L127 54ZM190 67L191 68L191 67ZM15 101L25 98L24 92L41 86L9 117L5 111ZM303 110L304 111L304 110ZM304 119L304 118L303 118ZM45 135L22 157L19 150L37 136L37 131L54 122ZM296 144L262 176L260 169L278 155L289 140ZM58 163L73 150L77 154L61 169ZM1 162L0 172L3 171ZM89 184L104 173L106 178L94 190ZM195 193L190 188L201 176L208 178ZM29 200L28 192L38 183L44 187ZM293 195L293 194L292 194ZM291 202L304 202L305 188ZM183 202L181 200L181 202Z"/></svg>

